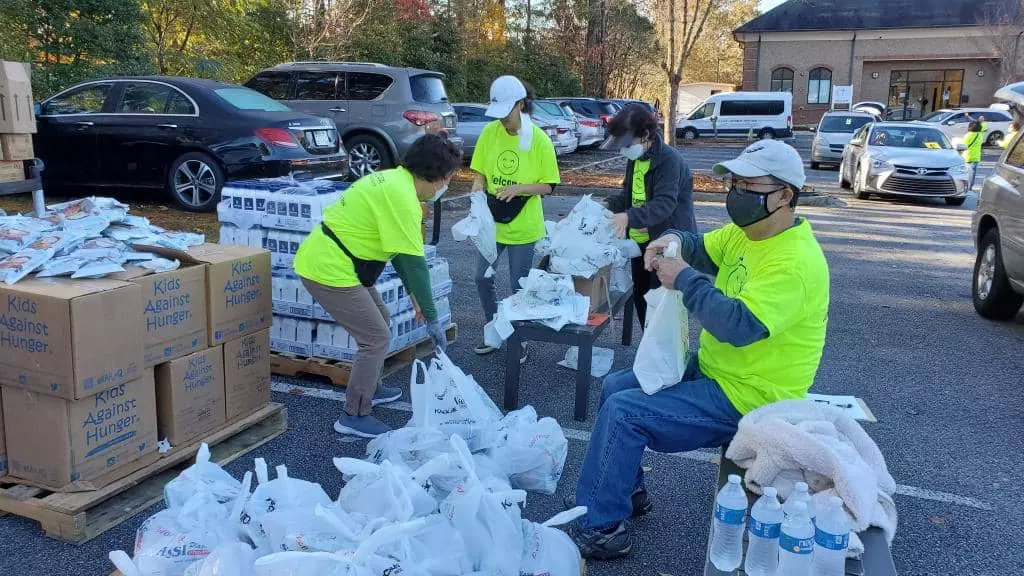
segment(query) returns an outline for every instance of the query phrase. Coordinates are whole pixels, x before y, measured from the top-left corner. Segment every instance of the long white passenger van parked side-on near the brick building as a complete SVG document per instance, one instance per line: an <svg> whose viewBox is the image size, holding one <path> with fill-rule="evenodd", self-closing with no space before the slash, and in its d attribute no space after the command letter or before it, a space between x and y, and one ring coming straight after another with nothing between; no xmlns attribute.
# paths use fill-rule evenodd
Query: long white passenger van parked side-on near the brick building
<svg viewBox="0 0 1024 576"><path fill-rule="evenodd" d="M713 123L713 120L715 121ZM676 137L692 140L715 133L745 138L793 135L793 94L790 92L720 92L693 109L676 125Z"/></svg>

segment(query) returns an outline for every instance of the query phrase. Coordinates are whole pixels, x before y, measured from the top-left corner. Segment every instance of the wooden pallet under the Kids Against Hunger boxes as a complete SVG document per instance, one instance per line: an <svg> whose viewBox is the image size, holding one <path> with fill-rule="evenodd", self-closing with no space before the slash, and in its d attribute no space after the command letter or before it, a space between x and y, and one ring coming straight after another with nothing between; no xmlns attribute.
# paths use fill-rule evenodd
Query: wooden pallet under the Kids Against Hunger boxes
<svg viewBox="0 0 1024 576"><path fill-rule="evenodd" d="M0 510L39 522L51 538L81 544L162 500L164 485L191 465L203 442L210 446L211 460L223 465L286 429L288 411L270 404L99 490L57 493L0 483Z"/></svg>

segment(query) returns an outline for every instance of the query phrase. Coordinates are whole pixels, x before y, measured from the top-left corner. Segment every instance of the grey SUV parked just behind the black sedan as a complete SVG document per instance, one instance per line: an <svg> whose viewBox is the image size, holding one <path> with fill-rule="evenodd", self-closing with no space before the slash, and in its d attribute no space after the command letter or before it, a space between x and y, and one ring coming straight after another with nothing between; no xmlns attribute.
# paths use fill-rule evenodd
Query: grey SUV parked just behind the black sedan
<svg viewBox="0 0 1024 576"><path fill-rule="evenodd" d="M260 72L246 86L333 120L356 177L395 166L424 133L445 132L463 143L439 72L379 64L288 63Z"/></svg>

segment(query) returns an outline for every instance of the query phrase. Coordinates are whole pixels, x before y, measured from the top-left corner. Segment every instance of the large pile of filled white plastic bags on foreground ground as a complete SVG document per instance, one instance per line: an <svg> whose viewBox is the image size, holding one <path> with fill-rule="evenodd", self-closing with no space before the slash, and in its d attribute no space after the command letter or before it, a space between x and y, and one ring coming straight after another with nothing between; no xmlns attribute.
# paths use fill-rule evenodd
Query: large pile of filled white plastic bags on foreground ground
<svg viewBox="0 0 1024 576"><path fill-rule="evenodd" d="M369 458L335 458L336 499L284 465L256 459L242 482L210 461L168 483L167 509L142 524L125 576L580 576L583 561L555 526L522 518L526 491L553 493L567 441L532 408L502 416L443 354L413 373L410 425L375 439ZM465 436L463 436L465 435Z"/></svg>

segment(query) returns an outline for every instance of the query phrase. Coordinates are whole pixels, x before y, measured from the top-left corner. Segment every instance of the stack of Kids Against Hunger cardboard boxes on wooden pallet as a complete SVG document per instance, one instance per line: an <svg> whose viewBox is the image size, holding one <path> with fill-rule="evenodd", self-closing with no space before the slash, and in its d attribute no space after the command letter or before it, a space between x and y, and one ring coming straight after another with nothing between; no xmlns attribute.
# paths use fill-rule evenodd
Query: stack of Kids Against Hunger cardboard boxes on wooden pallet
<svg viewBox="0 0 1024 576"><path fill-rule="evenodd" d="M269 253L176 256L161 274L0 285L7 475L96 489L158 458L158 440L191 444L269 402Z"/></svg>

